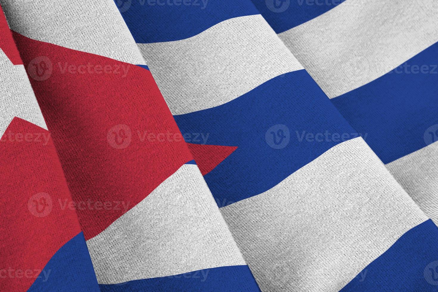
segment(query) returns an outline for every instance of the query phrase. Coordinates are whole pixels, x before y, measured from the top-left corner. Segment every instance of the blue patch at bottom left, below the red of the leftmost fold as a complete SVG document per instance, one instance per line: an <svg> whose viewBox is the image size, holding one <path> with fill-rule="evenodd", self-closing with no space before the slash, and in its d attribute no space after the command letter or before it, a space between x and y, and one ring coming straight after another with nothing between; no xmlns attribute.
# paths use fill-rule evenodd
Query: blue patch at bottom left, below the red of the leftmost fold
<svg viewBox="0 0 438 292"><path fill-rule="evenodd" d="M82 232L53 255L28 291L100 291Z"/></svg>

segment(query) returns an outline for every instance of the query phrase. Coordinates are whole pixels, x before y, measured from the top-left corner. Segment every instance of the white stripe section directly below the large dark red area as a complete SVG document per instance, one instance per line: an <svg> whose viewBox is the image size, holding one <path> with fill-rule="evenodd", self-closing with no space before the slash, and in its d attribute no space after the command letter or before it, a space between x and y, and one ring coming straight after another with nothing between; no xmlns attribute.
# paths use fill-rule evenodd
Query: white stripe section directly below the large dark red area
<svg viewBox="0 0 438 292"><path fill-rule="evenodd" d="M246 264L196 165L181 166L87 245L101 284Z"/></svg>

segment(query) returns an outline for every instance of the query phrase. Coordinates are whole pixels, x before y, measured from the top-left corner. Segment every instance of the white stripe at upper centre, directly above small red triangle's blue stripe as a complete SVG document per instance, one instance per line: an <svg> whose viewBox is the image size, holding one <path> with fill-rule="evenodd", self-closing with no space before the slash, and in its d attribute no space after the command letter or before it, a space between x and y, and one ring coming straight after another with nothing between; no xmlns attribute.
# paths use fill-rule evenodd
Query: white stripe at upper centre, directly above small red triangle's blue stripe
<svg viewBox="0 0 438 292"><path fill-rule="evenodd" d="M173 115L219 106L303 69L261 15L231 18L188 39L138 46Z"/></svg>

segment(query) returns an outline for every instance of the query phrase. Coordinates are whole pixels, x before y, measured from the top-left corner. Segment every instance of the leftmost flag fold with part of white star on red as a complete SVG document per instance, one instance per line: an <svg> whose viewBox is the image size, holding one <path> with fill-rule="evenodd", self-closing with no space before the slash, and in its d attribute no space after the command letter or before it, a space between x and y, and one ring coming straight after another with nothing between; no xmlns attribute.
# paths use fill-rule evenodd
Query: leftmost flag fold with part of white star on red
<svg viewBox="0 0 438 292"><path fill-rule="evenodd" d="M51 133L0 7L0 290L99 291Z"/></svg>

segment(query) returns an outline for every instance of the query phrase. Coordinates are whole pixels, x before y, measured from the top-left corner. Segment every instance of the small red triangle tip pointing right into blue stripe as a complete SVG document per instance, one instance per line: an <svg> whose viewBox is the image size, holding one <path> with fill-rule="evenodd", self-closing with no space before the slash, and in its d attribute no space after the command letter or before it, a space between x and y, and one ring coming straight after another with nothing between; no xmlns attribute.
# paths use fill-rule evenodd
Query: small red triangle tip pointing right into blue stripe
<svg viewBox="0 0 438 292"><path fill-rule="evenodd" d="M187 143L191 154L201 170L203 176L211 172L219 163L223 162L234 150L235 146L204 145Z"/></svg>

